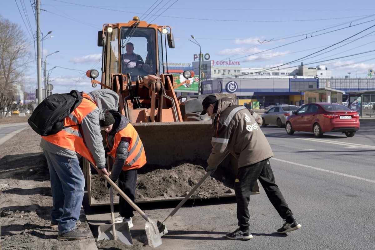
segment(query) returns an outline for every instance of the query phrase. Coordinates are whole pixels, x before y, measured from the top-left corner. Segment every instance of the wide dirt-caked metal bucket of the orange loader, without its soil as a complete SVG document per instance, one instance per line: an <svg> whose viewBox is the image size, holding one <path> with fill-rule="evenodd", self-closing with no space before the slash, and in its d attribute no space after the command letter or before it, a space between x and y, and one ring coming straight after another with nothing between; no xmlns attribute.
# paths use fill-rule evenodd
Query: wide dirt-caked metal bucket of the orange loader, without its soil
<svg viewBox="0 0 375 250"><path fill-rule="evenodd" d="M211 139L213 129L211 121L186 121L186 122L159 122L159 123L132 123L144 146L147 164L143 166L142 171L147 172L157 168L169 168L178 162L204 162L211 153ZM177 164L178 165L178 164ZM221 169L227 169L231 175L237 174L237 160L230 154L224 159L219 166ZM230 168L232 168L232 171ZM84 166L85 174L90 177L91 170L89 166ZM94 174L95 171L93 172ZM233 178L234 180L234 178ZM90 206L109 205L108 202L98 201L93 198L91 192L91 179L87 178L87 192L89 195ZM259 193L258 183L253 189L253 194ZM234 197L234 193L225 193L212 198ZM209 198L209 197L208 197ZM165 197L165 198L148 198L136 199L135 203L150 203L160 201L181 201L183 197ZM114 197L114 204L118 204L118 197Z"/></svg>

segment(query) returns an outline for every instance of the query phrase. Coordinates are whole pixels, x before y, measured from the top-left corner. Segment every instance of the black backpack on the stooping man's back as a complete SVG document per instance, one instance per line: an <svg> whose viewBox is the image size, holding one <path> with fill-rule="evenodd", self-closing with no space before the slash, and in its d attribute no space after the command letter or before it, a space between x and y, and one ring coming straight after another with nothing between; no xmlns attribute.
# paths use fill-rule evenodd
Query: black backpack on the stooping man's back
<svg viewBox="0 0 375 250"><path fill-rule="evenodd" d="M65 118L80 105L82 99L78 90L65 94L52 94L34 109L27 122L39 135L54 135L65 128Z"/></svg>

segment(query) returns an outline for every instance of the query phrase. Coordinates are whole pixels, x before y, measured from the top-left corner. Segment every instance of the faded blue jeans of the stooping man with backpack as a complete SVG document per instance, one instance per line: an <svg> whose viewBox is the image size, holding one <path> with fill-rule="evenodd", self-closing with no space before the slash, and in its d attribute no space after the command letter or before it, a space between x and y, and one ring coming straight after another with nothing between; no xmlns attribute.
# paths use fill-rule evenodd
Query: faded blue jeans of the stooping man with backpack
<svg viewBox="0 0 375 250"><path fill-rule="evenodd" d="M43 150L51 178L51 222L58 223L60 234L77 228L85 188L85 178L78 159Z"/></svg>

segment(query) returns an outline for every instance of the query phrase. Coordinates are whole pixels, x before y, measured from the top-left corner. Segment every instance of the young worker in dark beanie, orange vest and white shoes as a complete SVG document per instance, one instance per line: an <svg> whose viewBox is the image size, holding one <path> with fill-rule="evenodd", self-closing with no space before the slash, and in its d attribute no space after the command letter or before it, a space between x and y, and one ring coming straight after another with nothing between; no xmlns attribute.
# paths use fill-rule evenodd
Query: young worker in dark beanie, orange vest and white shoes
<svg viewBox="0 0 375 250"><path fill-rule="evenodd" d="M113 163L110 179L113 182L118 179L118 187L134 202L138 168L146 164L142 141L130 121L118 112L106 113L104 120L100 121L100 126L106 132L105 151L112 158L112 161L107 164ZM107 187L110 188L111 184L107 183ZM129 228L132 228L134 209L122 196L120 196L118 209L120 215L115 217L113 223L126 222Z"/></svg>

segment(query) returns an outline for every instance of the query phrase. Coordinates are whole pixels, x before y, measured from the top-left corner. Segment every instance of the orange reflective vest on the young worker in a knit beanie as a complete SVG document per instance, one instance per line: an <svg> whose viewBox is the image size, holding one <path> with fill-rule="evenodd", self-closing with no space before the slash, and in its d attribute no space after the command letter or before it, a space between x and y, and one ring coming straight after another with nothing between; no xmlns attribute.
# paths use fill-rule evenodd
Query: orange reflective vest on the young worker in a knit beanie
<svg viewBox="0 0 375 250"><path fill-rule="evenodd" d="M143 144L135 128L130 123L127 124L125 129L116 133L113 148L110 148L111 152L108 154L112 157L112 159L116 159L116 150L122 137L130 138L129 148L127 149L128 156L122 170L126 171L144 166L146 164L146 154L144 152ZM108 145L108 135L105 136L105 139Z"/></svg>

